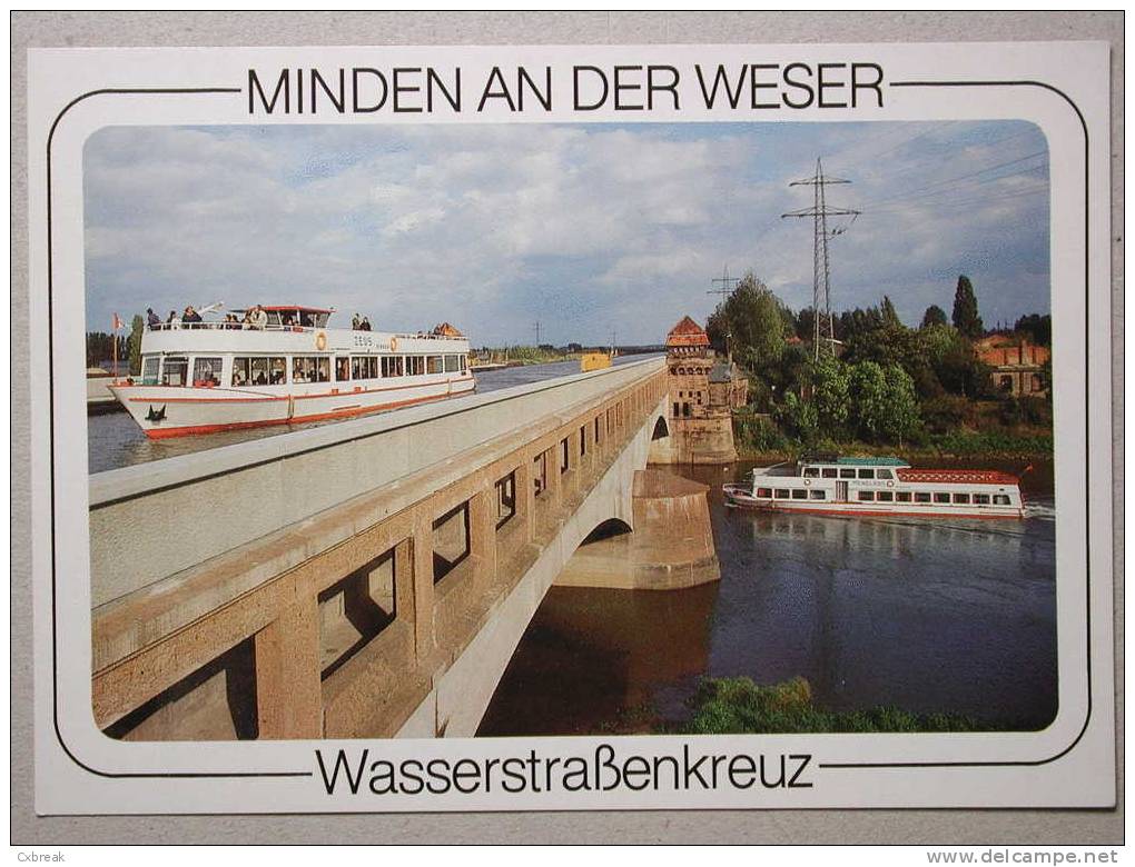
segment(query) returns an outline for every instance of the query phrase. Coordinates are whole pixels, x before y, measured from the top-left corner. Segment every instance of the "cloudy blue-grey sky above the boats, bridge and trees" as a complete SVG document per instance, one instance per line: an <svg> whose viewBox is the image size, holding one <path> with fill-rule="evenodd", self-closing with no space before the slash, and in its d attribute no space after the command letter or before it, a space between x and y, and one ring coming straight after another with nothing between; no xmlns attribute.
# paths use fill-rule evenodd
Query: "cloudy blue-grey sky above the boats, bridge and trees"
<svg viewBox="0 0 1135 867"><path fill-rule="evenodd" d="M917 325L959 274L986 326L1050 309L1049 164L1024 121L108 127L84 152L86 322L222 301L448 321L474 346L661 342L714 278L812 304L814 175L832 309Z"/></svg>

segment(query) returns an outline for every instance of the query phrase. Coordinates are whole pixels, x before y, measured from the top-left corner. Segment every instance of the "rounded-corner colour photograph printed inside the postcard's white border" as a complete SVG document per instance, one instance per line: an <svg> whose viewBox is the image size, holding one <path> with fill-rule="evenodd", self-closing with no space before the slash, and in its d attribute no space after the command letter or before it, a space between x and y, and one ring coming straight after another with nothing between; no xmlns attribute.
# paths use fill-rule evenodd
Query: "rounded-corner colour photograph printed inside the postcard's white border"
<svg viewBox="0 0 1135 867"><path fill-rule="evenodd" d="M95 726L1045 730L1017 117L94 129Z"/></svg>

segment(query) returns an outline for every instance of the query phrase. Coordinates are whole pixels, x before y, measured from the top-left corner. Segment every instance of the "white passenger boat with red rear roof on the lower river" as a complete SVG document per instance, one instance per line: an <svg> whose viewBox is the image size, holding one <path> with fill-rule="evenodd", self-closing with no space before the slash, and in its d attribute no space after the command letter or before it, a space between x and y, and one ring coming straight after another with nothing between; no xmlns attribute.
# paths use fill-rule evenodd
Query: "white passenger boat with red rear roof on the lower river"
<svg viewBox="0 0 1135 867"><path fill-rule="evenodd" d="M1022 518L1017 476L995 469L915 469L898 458L809 454L758 467L723 486L732 508L816 515Z"/></svg>

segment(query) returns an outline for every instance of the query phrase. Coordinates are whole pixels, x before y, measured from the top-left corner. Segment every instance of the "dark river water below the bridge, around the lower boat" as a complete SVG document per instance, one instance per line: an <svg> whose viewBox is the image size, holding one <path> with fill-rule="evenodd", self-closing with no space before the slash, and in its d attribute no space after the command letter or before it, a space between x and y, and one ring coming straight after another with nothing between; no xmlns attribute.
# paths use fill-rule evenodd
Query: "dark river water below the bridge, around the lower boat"
<svg viewBox="0 0 1135 867"><path fill-rule="evenodd" d="M711 485L721 581L553 587L478 733L650 731L689 719L700 678L738 675L801 675L832 709L956 712L1004 730L1054 717L1051 467L1024 476L1020 521L726 509L721 484L750 468L669 468Z"/></svg>

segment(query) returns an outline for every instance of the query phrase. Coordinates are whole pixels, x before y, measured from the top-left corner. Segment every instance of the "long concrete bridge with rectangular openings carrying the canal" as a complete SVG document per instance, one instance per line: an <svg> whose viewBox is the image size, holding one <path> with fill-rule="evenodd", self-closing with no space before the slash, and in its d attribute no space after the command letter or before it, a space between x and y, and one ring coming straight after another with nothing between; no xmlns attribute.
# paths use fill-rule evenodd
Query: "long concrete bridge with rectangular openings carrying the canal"
<svg viewBox="0 0 1135 867"><path fill-rule="evenodd" d="M473 734L667 406L656 358L92 476L96 723Z"/></svg>

